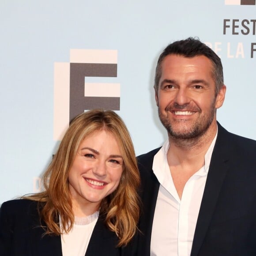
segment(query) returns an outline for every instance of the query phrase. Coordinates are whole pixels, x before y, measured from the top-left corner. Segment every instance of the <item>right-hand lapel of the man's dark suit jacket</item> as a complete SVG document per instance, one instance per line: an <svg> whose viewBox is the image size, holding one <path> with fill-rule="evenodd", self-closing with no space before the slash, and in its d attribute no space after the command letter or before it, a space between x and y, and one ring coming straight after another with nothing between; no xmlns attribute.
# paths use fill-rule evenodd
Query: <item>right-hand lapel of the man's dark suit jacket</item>
<svg viewBox="0 0 256 256"><path fill-rule="evenodd" d="M228 170L229 133L218 124L218 136L211 157L202 203L196 223L191 256L197 256L210 225L218 196Z"/></svg>

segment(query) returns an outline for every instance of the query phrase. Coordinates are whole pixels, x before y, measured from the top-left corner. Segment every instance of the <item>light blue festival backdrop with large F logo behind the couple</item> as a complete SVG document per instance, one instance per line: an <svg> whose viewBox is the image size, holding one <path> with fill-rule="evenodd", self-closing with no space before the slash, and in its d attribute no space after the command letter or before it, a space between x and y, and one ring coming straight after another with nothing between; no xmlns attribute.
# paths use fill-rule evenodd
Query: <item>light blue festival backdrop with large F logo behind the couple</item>
<svg viewBox="0 0 256 256"><path fill-rule="evenodd" d="M0 203L40 191L69 120L84 110L115 110L137 155L161 146L156 61L190 36L222 59L218 121L256 139L255 0L1 0Z"/></svg>

